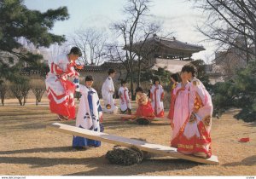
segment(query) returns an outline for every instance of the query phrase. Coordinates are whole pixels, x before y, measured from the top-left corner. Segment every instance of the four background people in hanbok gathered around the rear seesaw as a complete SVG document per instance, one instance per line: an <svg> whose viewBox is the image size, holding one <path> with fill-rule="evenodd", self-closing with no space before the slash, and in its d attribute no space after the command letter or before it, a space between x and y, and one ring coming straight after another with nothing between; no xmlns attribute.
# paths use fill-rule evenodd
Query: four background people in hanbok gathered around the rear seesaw
<svg viewBox="0 0 256 179"><path fill-rule="evenodd" d="M118 107L113 100L114 86L113 77L115 71L108 70L108 78L102 84L102 99L104 101L104 113L117 113ZM119 111L120 113L131 114L131 93L127 88L125 80L121 80L119 88ZM154 84L150 88L149 96L143 93L141 87L136 89L137 112L136 117L143 117L152 120L154 117L164 117L164 90L160 85L160 79L154 78Z"/></svg>

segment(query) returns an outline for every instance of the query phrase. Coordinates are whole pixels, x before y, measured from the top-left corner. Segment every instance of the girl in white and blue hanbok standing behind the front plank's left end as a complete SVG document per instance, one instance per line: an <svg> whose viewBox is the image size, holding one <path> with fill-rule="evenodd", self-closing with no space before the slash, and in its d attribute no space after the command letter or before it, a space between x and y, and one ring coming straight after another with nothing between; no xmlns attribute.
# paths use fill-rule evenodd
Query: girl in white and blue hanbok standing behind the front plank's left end
<svg viewBox="0 0 256 179"><path fill-rule="evenodd" d="M93 78L87 76L85 78L85 86L82 84L77 85L76 90L79 91L82 96L79 102L76 126L86 130L102 132L102 107L96 90L91 88L92 84ZM101 141L95 141L81 136L73 136L74 148L86 149L88 147L99 146L101 146Z"/></svg>

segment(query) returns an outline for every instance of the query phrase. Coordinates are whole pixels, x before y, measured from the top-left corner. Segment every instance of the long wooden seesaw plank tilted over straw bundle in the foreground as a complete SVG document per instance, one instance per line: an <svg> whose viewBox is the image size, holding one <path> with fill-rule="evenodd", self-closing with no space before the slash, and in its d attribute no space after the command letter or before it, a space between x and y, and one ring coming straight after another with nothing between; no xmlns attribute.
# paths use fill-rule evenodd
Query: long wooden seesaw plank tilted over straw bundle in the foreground
<svg viewBox="0 0 256 179"><path fill-rule="evenodd" d="M147 151L149 153L157 153L165 156L171 156L177 159L186 159L194 162L209 164L209 165L218 165L218 157L212 155L209 159L203 159L200 157L195 157L193 155L184 155L183 153L178 153L177 148L162 146L154 143L148 143L145 141L139 141L135 139L129 139L122 136L113 136L107 133L96 132L92 130L84 130L82 128L78 128L75 126L54 123L49 124L46 127L49 130L55 130L63 133L67 133L74 136L82 136L92 140L97 141L105 141L108 143L112 143L115 145L120 145L124 147L135 146L143 151Z"/></svg>

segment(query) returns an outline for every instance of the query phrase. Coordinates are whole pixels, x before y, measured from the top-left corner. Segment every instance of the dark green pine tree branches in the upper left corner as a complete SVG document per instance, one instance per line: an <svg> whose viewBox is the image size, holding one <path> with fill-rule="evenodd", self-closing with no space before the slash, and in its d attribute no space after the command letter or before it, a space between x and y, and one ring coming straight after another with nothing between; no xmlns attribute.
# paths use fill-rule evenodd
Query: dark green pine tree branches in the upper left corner
<svg viewBox="0 0 256 179"><path fill-rule="evenodd" d="M62 43L65 36L51 32L55 21L67 20L67 7L48 9L41 13L27 9L23 0L2 0L0 2L0 77L14 80L15 74L26 61L31 66L42 66L41 55L32 55L22 48L20 38L35 47L49 47L52 43Z"/></svg>

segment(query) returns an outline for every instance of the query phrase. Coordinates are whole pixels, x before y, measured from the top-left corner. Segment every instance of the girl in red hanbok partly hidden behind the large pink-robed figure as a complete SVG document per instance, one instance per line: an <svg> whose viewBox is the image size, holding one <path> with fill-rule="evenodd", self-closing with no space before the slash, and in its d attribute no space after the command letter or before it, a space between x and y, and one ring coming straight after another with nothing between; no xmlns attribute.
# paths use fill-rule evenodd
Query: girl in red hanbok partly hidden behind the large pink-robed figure
<svg viewBox="0 0 256 179"><path fill-rule="evenodd" d="M173 94L174 89L177 87L178 82L180 81L179 79L179 74L178 73L173 73L171 75L171 81L172 81L172 87L171 87L171 103L170 103L170 109L167 118L170 118L171 121L173 119L173 111L174 111L174 97L175 95ZM172 124L172 123L171 123Z"/></svg>

